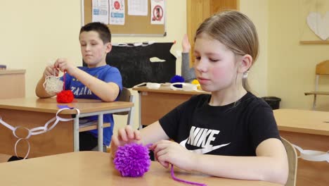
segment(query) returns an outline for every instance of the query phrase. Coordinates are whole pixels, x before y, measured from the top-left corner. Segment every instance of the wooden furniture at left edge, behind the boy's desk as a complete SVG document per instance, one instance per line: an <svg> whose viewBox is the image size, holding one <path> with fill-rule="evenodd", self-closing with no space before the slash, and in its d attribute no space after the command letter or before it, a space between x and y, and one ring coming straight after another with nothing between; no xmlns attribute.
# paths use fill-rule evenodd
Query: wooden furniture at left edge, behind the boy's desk
<svg viewBox="0 0 329 186"><path fill-rule="evenodd" d="M0 70L0 85L0 99L25 97L25 70Z"/></svg>

